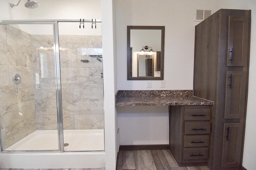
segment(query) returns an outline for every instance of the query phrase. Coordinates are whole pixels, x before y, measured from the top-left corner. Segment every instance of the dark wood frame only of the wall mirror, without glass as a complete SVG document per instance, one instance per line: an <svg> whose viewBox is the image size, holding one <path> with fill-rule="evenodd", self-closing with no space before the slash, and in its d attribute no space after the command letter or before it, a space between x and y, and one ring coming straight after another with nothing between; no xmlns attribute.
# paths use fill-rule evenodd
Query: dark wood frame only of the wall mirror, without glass
<svg viewBox="0 0 256 170"><path fill-rule="evenodd" d="M161 66L160 77L132 77L130 69L130 35L131 29L160 29L161 30ZM127 26L127 80L164 80L164 26Z"/></svg>

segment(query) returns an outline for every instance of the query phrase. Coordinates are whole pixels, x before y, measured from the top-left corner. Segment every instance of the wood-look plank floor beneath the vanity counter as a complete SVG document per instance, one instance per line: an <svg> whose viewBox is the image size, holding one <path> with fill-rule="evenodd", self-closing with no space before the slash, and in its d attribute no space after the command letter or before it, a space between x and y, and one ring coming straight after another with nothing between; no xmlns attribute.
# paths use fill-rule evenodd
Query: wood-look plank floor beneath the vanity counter
<svg viewBox="0 0 256 170"><path fill-rule="evenodd" d="M206 166L179 167L170 150L120 150L116 170L209 170Z"/></svg>

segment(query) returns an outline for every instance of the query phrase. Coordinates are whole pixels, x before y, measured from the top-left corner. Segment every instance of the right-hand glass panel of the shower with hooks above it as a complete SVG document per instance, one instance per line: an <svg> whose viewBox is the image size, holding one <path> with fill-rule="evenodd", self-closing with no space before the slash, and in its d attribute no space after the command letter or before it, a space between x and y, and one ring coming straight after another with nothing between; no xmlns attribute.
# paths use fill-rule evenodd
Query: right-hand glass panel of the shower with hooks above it
<svg viewBox="0 0 256 170"><path fill-rule="evenodd" d="M104 150L101 25L58 22L64 151Z"/></svg>

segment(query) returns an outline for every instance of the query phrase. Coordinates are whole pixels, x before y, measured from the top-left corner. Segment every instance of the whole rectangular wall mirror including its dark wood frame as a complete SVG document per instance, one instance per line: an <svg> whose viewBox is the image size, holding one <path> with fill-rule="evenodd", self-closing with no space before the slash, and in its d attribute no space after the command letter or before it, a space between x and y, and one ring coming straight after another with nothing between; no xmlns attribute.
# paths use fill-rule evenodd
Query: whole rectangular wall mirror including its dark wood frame
<svg viewBox="0 0 256 170"><path fill-rule="evenodd" d="M127 26L127 80L164 80L164 26Z"/></svg>

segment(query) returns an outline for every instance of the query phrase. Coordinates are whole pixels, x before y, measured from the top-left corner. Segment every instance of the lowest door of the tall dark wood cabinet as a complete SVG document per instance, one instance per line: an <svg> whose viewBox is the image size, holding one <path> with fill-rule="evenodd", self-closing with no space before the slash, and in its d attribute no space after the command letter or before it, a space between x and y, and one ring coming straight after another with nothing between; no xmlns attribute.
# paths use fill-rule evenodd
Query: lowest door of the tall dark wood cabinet
<svg viewBox="0 0 256 170"><path fill-rule="evenodd" d="M224 123L223 134L222 168L234 168L241 166L243 124Z"/></svg>

